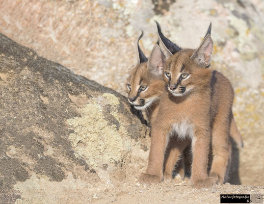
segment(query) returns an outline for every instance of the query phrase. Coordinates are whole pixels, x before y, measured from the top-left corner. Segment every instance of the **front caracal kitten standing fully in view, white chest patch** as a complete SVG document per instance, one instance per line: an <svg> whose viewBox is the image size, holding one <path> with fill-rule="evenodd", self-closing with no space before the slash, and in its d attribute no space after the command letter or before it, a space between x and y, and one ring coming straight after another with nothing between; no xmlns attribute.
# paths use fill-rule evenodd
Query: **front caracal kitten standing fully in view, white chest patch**
<svg viewBox="0 0 264 204"><path fill-rule="evenodd" d="M157 55L161 57L154 62L164 67L166 91L160 96L159 111L151 124L147 172L139 180L143 183L162 180L164 154L169 141L176 138L177 141L173 142L176 161L182 150L190 142L192 144L191 180L194 187L213 187L216 182L222 184L231 154L229 131L233 121L233 89L227 78L209 68L212 62L212 38L207 34L196 50L179 48L174 55L162 41L161 44L166 53ZM142 83L143 78L140 81ZM144 84L144 90L147 88ZM208 177L211 140L213 161Z"/></svg>

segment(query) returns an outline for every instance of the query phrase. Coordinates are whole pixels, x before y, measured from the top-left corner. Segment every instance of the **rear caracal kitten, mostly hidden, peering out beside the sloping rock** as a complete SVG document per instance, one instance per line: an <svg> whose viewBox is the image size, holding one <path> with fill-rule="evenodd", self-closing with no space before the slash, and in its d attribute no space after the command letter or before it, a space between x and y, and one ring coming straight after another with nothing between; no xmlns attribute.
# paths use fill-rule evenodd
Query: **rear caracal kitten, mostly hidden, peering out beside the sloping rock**
<svg viewBox="0 0 264 204"><path fill-rule="evenodd" d="M151 125L153 120L156 118L157 112L159 111L160 96L164 92L165 82L162 77L163 67L161 67L159 63L152 63L153 61L156 62L155 59L159 59L161 57L157 56L162 54L159 52L159 45L156 44L154 46L148 60L139 46L139 40L142 36L143 32L136 43L138 63L130 72L127 79L128 82L126 91L129 103L133 105L134 108L141 110L144 118L148 121L148 124ZM168 151L170 151L170 149L168 149ZM170 158L167 159L167 164L173 163L173 165L166 166L165 168L165 174L169 175L167 176L167 180L172 179L172 171L178 159L173 157L173 152L171 152L170 155ZM177 173L180 175L181 179L184 178L183 166L183 160L178 161Z"/></svg>

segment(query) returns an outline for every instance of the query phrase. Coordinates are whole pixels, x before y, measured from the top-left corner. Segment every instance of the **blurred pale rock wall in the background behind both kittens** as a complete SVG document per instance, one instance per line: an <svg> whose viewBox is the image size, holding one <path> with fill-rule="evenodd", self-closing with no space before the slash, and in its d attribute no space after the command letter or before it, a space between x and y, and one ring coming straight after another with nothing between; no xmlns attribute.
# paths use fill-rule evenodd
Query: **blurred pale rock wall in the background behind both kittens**
<svg viewBox="0 0 264 204"><path fill-rule="evenodd" d="M235 90L234 117L244 138L242 184L264 186L264 2L261 0L0 1L0 32L77 74L125 95L135 41L148 56L154 19L182 47L195 48L212 21L213 68Z"/></svg>

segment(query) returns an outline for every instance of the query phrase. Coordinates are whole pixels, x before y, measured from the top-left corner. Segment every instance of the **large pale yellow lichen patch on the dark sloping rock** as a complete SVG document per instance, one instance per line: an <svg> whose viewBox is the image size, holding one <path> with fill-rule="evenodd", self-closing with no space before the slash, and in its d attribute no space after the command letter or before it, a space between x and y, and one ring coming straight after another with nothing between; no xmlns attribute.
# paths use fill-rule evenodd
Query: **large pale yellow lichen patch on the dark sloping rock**
<svg viewBox="0 0 264 204"><path fill-rule="evenodd" d="M105 101L95 99L92 104L80 109L81 117L67 120L74 129L74 133L69 135L72 147L77 155L84 157L88 165L95 169L103 164L119 163L125 156L123 151L130 149L130 142L124 140L124 135L120 134L124 133L125 128L121 124L117 130L115 124L109 124L109 121L104 119L103 107L100 105L118 105L118 98L109 93L104 93L102 98ZM114 113L112 110L110 114L118 119Z"/></svg>

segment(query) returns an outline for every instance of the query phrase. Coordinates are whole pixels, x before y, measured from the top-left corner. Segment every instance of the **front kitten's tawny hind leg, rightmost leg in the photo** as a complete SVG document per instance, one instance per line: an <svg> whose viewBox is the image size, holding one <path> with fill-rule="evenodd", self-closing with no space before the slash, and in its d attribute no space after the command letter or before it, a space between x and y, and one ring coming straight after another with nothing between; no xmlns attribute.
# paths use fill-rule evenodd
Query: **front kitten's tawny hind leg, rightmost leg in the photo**
<svg viewBox="0 0 264 204"><path fill-rule="evenodd" d="M212 131L213 162L210 176L223 184L227 175L228 161L231 157L231 141L229 138L229 119L225 115L217 115Z"/></svg>

